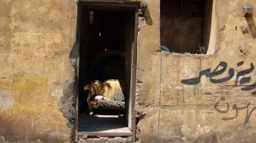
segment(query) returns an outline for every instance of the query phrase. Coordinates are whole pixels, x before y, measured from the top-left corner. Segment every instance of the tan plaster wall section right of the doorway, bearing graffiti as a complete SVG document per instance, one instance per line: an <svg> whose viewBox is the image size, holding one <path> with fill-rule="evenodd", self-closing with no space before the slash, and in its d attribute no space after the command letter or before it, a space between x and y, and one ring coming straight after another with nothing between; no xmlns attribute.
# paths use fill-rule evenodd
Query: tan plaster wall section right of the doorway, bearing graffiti
<svg viewBox="0 0 256 143"><path fill-rule="evenodd" d="M156 52L159 1L147 2L152 24L139 27L137 141L254 142L256 15L242 11L256 1L213 2L211 55Z"/></svg>

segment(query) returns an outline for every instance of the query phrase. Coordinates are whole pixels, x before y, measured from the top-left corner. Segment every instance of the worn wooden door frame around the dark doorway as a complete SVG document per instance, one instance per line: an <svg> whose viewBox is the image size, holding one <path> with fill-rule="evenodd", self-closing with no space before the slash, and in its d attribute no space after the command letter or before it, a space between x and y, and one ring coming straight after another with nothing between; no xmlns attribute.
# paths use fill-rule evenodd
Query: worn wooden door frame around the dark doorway
<svg viewBox="0 0 256 143"><path fill-rule="evenodd" d="M136 112L135 112L135 97L136 97L136 68L137 68L137 35L139 26L139 3L109 3L109 2L78 2L77 5L77 21L76 21L76 48L80 51L80 29L81 29L81 11L82 8L134 8L135 10L135 20L134 20L134 36L133 36L133 46L132 46L132 58L131 58L131 78L130 78L130 97L132 99L131 115L132 115L132 132L133 141L136 141ZM80 58L78 58L80 59ZM78 72L79 65L78 62ZM79 76L79 73L77 73ZM79 78L78 78L79 79ZM79 91L79 84L76 85L76 91ZM78 141L78 103L79 103L79 92L75 95L76 98L76 119L75 119L75 141ZM97 135L100 136L98 133ZM105 136L115 136L119 135L116 133L104 134Z"/></svg>

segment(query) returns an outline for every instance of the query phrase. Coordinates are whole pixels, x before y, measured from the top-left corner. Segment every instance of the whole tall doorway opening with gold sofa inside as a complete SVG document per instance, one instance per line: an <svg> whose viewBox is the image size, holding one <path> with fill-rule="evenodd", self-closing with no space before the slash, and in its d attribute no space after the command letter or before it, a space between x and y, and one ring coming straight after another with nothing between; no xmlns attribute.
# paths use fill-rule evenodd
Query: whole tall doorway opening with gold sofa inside
<svg viewBox="0 0 256 143"><path fill-rule="evenodd" d="M76 132L133 136L139 5L80 2Z"/></svg>

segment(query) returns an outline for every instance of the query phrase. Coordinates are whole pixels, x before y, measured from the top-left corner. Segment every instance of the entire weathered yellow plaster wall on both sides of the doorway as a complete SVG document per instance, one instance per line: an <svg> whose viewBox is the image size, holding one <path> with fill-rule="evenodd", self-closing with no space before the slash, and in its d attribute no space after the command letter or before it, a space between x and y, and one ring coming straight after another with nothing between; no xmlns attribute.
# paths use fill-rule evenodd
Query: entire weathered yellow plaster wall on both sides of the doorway
<svg viewBox="0 0 256 143"><path fill-rule="evenodd" d="M160 49L160 1L147 0L145 23L139 26L136 113L140 118L137 137L140 142L253 142L255 141L253 108L256 100L242 87L254 84L251 71L248 84L235 86L239 71L254 64L254 32L242 33L240 26L254 30L253 19L242 17L242 5L256 7L256 0L215 0L211 28L211 55L162 55ZM73 0L5 0L0 1L0 136L7 141L68 142L74 105L72 86L76 65L76 2ZM216 19L216 20L215 20ZM215 32L215 29L217 32ZM215 35L213 34L215 33ZM251 34L252 33L252 34ZM212 40L214 39L214 40ZM229 81L213 84L202 76L195 85L181 81L196 78L200 71L220 62L235 74ZM244 64L237 67L237 63ZM221 67L220 67L221 69ZM241 78L239 79L239 81ZM229 111L221 110L226 102ZM223 99L222 98L222 99ZM252 111L245 123L248 106ZM234 106L236 104L236 106ZM59 110L61 109L61 111ZM63 114L61 113L64 113ZM245 124L244 124L245 123ZM0 138L2 139L2 138Z"/></svg>

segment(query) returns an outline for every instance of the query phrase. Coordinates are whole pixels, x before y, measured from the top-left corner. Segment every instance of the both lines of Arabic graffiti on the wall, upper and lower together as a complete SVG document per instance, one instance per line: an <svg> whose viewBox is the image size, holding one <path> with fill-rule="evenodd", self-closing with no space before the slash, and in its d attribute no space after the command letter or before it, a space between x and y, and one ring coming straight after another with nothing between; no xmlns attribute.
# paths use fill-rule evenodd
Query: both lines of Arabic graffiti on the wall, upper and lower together
<svg viewBox="0 0 256 143"><path fill-rule="evenodd" d="M244 62L238 62L236 65L237 67L240 67L241 65L243 65ZM214 68L214 71L211 71L211 68L207 68L204 69L203 71L199 72L198 77L196 78L189 78L189 79L185 79L182 80L181 83L182 84L188 84L188 85L195 85L195 84L199 84L201 82L201 76L205 76L207 78L210 78L211 83L213 84L219 84L219 83L223 83L226 81L231 80L234 75L235 75L235 69L234 68L229 68L228 71L228 76L224 77L224 78L220 78L220 79L213 79L214 77L217 77L218 75L222 75L225 71L226 71L226 67L227 67L227 63L226 62L220 62L219 65L217 65L216 68ZM234 85L237 86L238 84L242 85L242 84L248 84L251 82L251 76L246 76L248 74L250 74L252 71L254 71L254 64L251 63L250 64L250 68L239 71L236 74L236 80ZM243 77L245 76L245 77ZM240 79L240 81L239 81ZM242 87L241 90L242 91L251 91L256 89L256 82L254 84ZM251 95L256 96L256 90L252 91ZM221 97L221 99L217 100L217 102L214 105L214 109L222 114L226 114L229 111L229 102L226 102L226 109L220 109L220 102L225 102L225 98ZM251 111L249 112L249 105L251 103L248 102L245 106L239 107L238 105L234 104L232 106L232 110L236 111L236 114L233 115L232 117L223 117L222 120L234 120L236 119L236 117L239 115L239 111L245 110L246 109L246 117L245 117L245 123L248 123L248 121L250 120L251 114L253 113L254 110L256 110L256 106L254 106L253 108L251 108Z"/></svg>

